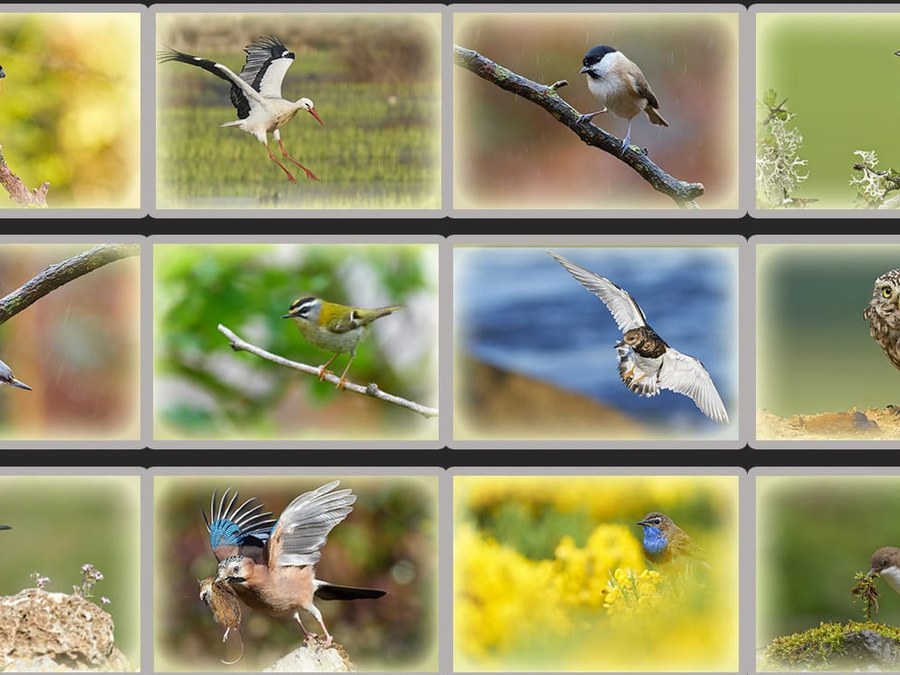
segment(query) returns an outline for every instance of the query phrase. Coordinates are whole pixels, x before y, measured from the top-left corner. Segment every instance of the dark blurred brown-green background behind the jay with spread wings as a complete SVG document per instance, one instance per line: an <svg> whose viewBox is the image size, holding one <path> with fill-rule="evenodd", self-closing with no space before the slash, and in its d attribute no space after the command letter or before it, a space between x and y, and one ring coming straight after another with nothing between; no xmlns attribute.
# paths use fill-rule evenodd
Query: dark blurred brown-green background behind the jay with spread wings
<svg viewBox="0 0 900 675"><path fill-rule="evenodd" d="M228 487L255 497L278 517L281 509L332 477L167 477L154 479L154 585L158 669L219 671L229 658L222 628L199 599L197 580L215 574L216 559L200 510ZM341 478L358 496L353 512L328 537L317 578L381 588L377 600L317 601L336 642L360 670L437 668L437 480L434 477ZM272 618L242 607L242 670L259 670L297 648L302 632L291 617ZM320 632L301 612L304 625ZM231 638L229 638L231 643ZM232 645L233 646L233 645Z"/></svg>

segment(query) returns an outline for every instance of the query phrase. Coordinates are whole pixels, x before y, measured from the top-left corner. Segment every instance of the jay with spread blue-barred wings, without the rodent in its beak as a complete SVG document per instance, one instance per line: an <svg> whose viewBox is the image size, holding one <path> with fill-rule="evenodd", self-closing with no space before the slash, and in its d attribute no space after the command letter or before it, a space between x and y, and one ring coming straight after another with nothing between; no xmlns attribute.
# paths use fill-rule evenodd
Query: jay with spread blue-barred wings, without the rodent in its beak
<svg viewBox="0 0 900 675"><path fill-rule="evenodd" d="M332 636L322 613L313 604L314 598L357 600L380 598L387 593L374 588L339 586L315 576L315 564L322 557L321 549L328 533L347 517L356 501L351 490L335 490L339 484L340 481L332 481L295 498L268 532L260 525L266 521L259 519L269 514L257 514L261 506L248 502L237 509L243 513L243 526L234 523L235 527L229 528L215 518L212 523L207 519L210 544L217 557L228 547L239 550L219 562L216 581L226 582L252 609L273 616L293 616L308 640L316 636L306 630L300 610L309 612L322 627L326 647L331 645ZM245 507L248 510L243 510ZM248 515L251 511L252 515ZM222 513L220 510L219 514ZM219 537L220 532L227 532L227 536Z"/></svg>

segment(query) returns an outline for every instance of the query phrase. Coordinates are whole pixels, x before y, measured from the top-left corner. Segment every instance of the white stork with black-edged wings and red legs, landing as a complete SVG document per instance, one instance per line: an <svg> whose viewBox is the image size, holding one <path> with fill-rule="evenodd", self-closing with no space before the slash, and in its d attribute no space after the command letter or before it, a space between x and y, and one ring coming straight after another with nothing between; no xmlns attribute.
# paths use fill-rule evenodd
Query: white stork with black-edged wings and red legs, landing
<svg viewBox="0 0 900 675"><path fill-rule="evenodd" d="M305 110L315 117L319 124L324 124L319 113L316 112L313 102L308 98L288 101L281 97L281 81L296 58L294 52L289 52L284 43L274 35L258 38L256 42L244 47L244 52L247 54L247 60L240 75L235 75L234 71L221 63L185 54L171 47L164 47L157 52L156 56L160 63L180 61L203 68L216 77L230 82L231 103L237 110L238 119L219 126L238 127L242 131L256 136L256 140L266 146L269 159L281 167L291 183L296 184L297 179L294 178L294 174L278 161L269 148L268 133L271 132L272 137L278 141L281 154L303 169L307 178L319 180L316 174L291 157L284 149L284 143L281 142L279 129L294 119L294 115L301 110Z"/></svg>

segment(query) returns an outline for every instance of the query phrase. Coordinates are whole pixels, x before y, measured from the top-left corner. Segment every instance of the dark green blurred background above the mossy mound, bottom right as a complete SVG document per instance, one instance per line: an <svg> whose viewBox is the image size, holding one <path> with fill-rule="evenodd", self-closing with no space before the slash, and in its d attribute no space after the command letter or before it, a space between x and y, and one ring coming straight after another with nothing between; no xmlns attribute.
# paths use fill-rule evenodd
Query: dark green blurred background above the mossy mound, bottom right
<svg viewBox="0 0 900 675"><path fill-rule="evenodd" d="M863 620L850 589L872 554L900 545L898 476L758 476L757 647L821 621ZM873 619L897 625L900 596L884 580Z"/></svg>

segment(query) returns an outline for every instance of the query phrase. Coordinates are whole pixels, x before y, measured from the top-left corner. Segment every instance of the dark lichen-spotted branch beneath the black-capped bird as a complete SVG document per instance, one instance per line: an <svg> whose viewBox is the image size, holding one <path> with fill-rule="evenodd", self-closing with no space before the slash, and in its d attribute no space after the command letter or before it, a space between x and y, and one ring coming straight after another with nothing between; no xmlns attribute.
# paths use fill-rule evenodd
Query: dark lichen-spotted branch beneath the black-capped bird
<svg viewBox="0 0 900 675"><path fill-rule="evenodd" d="M622 142L619 139L606 133L590 121L582 122L578 111L559 97L556 93L557 89L568 84L565 80L554 82L548 87L522 77L478 52L459 45L453 45L453 58L457 66L475 73L478 77L501 89L541 106L560 124L569 127L582 141L608 152L630 166L641 178L650 183L653 189L670 197L681 208L700 208L696 200L703 195L705 188L702 183L688 183L675 178L651 162L643 153L626 152L623 154Z"/></svg>

